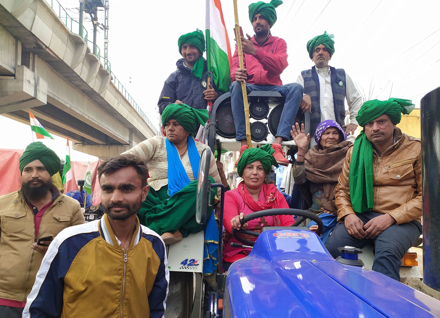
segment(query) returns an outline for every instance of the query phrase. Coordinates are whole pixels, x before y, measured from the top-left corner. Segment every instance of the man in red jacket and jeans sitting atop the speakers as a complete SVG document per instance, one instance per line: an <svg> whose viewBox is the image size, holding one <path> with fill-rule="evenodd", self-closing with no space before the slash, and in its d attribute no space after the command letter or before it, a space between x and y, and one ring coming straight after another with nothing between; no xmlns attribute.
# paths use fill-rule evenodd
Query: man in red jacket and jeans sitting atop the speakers
<svg viewBox="0 0 440 318"><path fill-rule="evenodd" d="M249 20L255 35L251 38L246 34L247 39L241 37L245 69L239 68L238 51L235 49L232 57L230 89L236 140L242 142L240 156L247 149L241 83L246 81L248 94L250 91L278 91L286 98L272 148L275 150L273 156L278 164L287 166L289 161L282 152L281 143L283 140L289 140L290 129L299 107L301 106L302 111L305 112L310 108L310 103L302 101L304 88L301 85L296 83L283 85L280 78L282 71L288 65L287 45L283 39L272 36L270 32L276 21L275 8L280 4L282 4L281 0L271 0L270 4L259 1L249 5Z"/></svg>

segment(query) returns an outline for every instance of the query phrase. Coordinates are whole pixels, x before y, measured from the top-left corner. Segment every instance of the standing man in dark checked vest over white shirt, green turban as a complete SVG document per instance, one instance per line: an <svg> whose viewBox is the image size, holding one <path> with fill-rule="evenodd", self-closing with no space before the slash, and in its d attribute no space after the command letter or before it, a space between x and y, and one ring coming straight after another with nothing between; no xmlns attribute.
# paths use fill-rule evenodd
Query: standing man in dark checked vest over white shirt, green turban
<svg viewBox="0 0 440 318"><path fill-rule="evenodd" d="M328 63L334 54L334 35L324 31L307 42L312 69L301 72L297 83L304 87L304 100L311 105L310 131L314 132L320 122L336 121L348 135L356 131L356 115L362 105L362 97L353 80L344 69L335 69ZM350 113L350 124L345 125L345 99ZM354 137L348 135L348 141ZM313 143L313 140L312 140Z"/></svg>

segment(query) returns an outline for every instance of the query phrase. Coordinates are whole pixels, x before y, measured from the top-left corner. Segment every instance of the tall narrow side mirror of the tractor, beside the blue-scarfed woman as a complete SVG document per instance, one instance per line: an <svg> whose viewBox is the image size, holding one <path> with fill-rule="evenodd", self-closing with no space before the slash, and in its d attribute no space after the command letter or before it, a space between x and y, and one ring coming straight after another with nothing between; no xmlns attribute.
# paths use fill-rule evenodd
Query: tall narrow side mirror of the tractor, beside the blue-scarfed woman
<svg viewBox="0 0 440 318"><path fill-rule="evenodd" d="M208 179L211 156L212 152L210 149L204 149L200 156L195 208L195 220L198 224L205 224L206 222L206 205L208 204L208 197L211 192L211 183Z"/></svg>

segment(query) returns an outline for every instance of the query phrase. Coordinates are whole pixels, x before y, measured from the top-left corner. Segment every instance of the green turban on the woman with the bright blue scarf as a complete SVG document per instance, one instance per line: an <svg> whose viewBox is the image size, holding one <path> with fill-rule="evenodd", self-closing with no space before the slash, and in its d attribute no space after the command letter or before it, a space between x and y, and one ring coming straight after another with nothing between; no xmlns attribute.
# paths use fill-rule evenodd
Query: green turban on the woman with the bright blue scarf
<svg viewBox="0 0 440 318"><path fill-rule="evenodd" d="M205 126L208 121L208 110L196 110L186 104L170 104L162 112L162 126L170 119L175 119L183 129L194 137L194 130L198 124Z"/></svg>

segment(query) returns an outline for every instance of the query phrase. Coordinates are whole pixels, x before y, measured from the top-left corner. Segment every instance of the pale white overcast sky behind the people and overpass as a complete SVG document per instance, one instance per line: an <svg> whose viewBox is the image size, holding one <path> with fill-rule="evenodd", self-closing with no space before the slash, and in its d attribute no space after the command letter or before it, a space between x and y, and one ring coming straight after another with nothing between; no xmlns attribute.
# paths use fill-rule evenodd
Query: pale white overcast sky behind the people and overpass
<svg viewBox="0 0 440 318"><path fill-rule="evenodd" d="M59 2L73 8L70 16L78 16L74 9L79 7L78 1ZM253 29L247 7L252 2L238 0L240 25L250 35ZM232 1L221 3L234 49ZM205 29L205 0L109 0L109 4L112 72L150 120L158 124L157 102L163 83L181 57L177 39L196 28ZM335 35L335 53L329 64L344 68L367 99L388 99L391 95L412 99L419 107L420 99L440 85L436 76L440 72L438 12L438 0L285 0L271 29L274 36L287 42L289 66L282 80L294 82L301 70L313 65L307 41L326 30ZM103 20L100 12L99 22ZM86 26L92 39L92 26ZM103 55L103 31L99 31L97 44ZM25 148L31 142L29 130L25 124L0 116L0 133L4 136L0 148ZM11 132L13 137L5 137ZM45 143L60 157L65 156L65 139ZM95 157L72 151L71 159Z"/></svg>

